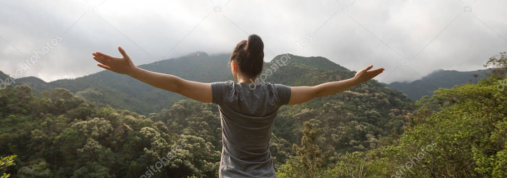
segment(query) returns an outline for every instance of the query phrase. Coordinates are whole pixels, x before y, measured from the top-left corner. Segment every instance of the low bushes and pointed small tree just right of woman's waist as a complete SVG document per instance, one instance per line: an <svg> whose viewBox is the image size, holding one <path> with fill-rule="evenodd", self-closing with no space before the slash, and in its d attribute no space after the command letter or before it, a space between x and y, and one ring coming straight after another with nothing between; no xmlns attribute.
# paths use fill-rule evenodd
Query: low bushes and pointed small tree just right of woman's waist
<svg viewBox="0 0 507 178"><path fill-rule="evenodd" d="M322 152L317 146L320 123L317 120L305 122L301 145L294 145L296 156L288 159L277 171L278 177L389 177L389 167L395 166L386 153L369 152L345 153L333 163L330 152Z"/></svg>

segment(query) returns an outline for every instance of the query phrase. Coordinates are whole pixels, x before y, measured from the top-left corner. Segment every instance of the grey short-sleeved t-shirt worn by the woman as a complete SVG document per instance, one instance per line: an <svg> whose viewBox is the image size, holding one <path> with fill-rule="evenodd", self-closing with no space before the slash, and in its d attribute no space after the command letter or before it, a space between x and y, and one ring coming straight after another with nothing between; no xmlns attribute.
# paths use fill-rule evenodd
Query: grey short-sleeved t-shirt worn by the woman
<svg viewBox="0 0 507 178"><path fill-rule="evenodd" d="M281 84L211 83L222 124L220 177L276 177L269 139L278 108L291 87Z"/></svg>

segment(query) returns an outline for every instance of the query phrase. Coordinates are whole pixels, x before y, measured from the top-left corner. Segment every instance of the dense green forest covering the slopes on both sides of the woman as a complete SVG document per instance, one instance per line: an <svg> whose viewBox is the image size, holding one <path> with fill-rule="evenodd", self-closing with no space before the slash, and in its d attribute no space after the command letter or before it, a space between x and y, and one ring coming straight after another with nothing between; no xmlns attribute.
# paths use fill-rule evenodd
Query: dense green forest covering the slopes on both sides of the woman
<svg viewBox="0 0 507 178"><path fill-rule="evenodd" d="M184 68L182 61L201 55L167 63ZM325 58L290 57L269 82L314 85L354 74ZM485 67L494 70L477 83L439 89L416 102L371 80L281 107L270 144L277 176L507 177L507 56L492 57ZM189 77L207 80L200 74L212 72L198 70ZM228 71L226 65L221 70ZM81 86L79 80L86 82ZM25 80L0 90L2 177L218 177L222 130L216 105L160 94L171 105L145 99L136 105L162 108L133 112L121 107L129 104L132 88L100 80L107 90L87 77L58 81L71 88ZM123 81L112 84L127 87ZM124 98L97 97L116 91Z"/></svg>

